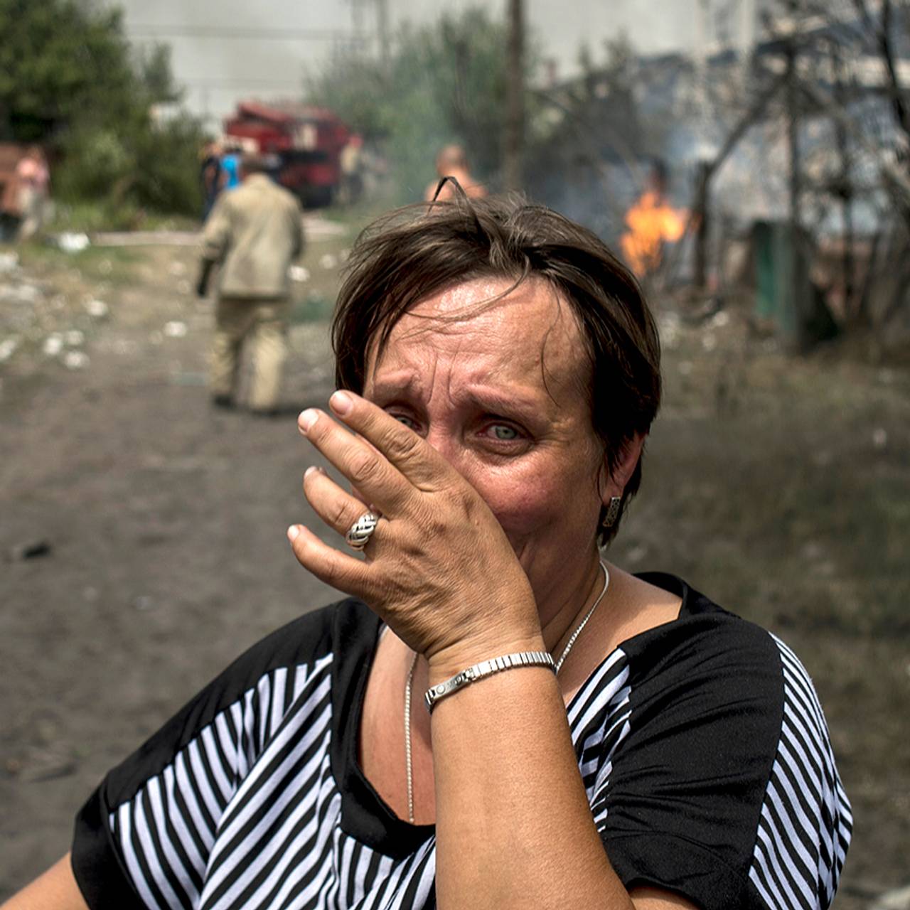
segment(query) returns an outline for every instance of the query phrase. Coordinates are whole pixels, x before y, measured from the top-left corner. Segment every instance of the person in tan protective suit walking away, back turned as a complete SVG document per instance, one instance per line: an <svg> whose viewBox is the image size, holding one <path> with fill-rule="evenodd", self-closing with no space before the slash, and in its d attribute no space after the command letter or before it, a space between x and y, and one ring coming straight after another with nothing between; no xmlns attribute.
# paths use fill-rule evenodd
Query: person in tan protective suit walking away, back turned
<svg viewBox="0 0 910 910"><path fill-rule="evenodd" d="M197 293L204 297L212 268L218 278L211 392L214 404L235 404L238 363L244 339L253 345L255 371L251 410L275 412L284 364L288 311L288 267L303 249L296 197L266 175L262 157L245 158L242 184L218 197L202 237Z"/></svg>

